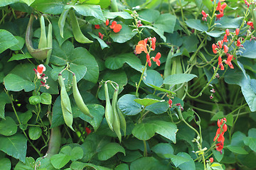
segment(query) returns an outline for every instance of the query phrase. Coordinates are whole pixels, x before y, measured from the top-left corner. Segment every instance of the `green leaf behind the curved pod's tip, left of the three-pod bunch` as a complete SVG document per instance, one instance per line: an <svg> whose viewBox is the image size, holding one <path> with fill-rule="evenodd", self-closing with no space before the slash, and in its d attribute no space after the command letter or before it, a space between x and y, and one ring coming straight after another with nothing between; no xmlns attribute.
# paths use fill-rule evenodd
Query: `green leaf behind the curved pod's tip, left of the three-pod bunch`
<svg viewBox="0 0 256 170"><path fill-rule="evenodd" d="M103 115L105 115L105 108L98 104L89 104L87 105L87 108L94 117L93 119L82 113L77 106L73 107L74 117L79 117L87 123L90 123L96 131L102 123Z"/></svg>

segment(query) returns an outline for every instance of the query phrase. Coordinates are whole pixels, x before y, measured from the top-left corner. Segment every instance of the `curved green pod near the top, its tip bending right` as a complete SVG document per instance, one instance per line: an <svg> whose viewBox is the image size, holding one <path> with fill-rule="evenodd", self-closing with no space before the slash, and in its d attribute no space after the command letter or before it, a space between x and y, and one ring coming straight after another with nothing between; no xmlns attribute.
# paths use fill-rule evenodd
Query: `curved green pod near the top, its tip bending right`
<svg viewBox="0 0 256 170"><path fill-rule="evenodd" d="M69 13L75 40L80 43L92 43L93 41L89 40L87 37L85 37L85 35L82 34L82 31L80 30L80 26L78 23L78 19L75 16L75 12L73 10L70 10Z"/></svg>

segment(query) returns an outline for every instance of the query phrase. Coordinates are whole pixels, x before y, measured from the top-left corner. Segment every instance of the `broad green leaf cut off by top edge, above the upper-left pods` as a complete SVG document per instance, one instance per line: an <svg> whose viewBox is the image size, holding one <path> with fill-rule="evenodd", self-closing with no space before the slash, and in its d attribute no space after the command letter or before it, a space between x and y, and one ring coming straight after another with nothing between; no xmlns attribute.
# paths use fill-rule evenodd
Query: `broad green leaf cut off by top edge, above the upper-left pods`
<svg viewBox="0 0 256 170"><path fill-rule="evenodd" d="M49 13L53 15L58 15L62 13L64 6L68 1L60 1L60 0L36 0L31 5L37 11L41 11L41 13Z"/></svg>

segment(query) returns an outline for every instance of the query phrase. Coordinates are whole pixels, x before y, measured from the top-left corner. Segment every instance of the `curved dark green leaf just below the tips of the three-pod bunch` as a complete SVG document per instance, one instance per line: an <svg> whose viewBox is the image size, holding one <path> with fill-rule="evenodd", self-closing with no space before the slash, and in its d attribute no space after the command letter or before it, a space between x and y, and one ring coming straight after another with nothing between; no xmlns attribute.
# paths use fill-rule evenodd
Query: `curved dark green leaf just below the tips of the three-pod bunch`
<svg viewBox="0 0 256 170"><path fill-rule="evenodd" d="M117 143L108 143L102 147L100 152L98 152L97 157L100 161L105 161L113 157L117 152L122 152L125 155L125 150L121 145Z"/></svg>

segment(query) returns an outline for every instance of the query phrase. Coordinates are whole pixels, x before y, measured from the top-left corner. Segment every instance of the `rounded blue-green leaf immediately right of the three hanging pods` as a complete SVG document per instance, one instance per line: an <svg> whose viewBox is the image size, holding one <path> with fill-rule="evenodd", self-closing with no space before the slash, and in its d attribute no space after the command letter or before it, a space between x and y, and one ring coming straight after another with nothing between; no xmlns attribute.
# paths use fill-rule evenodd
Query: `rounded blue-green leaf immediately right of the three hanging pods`
<svg viewBox="0 0 256 170"><path fill-rule="evenodd" d="M137 115L142 111L142 106L134 101L136 98L132 94L125 94L119 98L118 106L124 115Z"/></svg>

